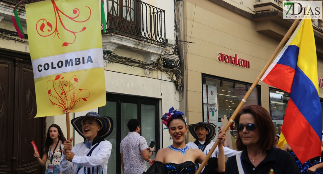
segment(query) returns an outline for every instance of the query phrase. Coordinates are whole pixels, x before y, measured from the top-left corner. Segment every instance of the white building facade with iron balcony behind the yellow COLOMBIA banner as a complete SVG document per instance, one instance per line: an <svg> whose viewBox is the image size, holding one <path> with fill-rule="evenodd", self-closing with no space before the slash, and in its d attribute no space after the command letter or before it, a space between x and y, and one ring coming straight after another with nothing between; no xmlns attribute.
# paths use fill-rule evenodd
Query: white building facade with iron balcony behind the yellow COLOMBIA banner
<svg viewBox="0 0 323 174"><path fill-rule="evenodd" d="M20 40L11 21L13 7L19 1L1 0L0 1L0 60L2 63L1 78L16 76L12 82L8 80L0 83L0 96L5 98L0 100L0 108L10 108L0 112L2 125L17 124L17 113L12 114L15 109L19 110L21 106L16 106L23 99L27 101L22 105L28 111L25 122L26 128L19 128L25 123L19 121L15 128L19 130L16 133L17 138L14 141L7 136L12 127L8 127L1 135L2 149L8 149L2 153L0 171L6 173L43 173L44 168L40 167L33 159L31 141L35 140L38 149L43 147L47 128L51 124L61 126L63 133L66 134L66 119L64 115L49 116L45 118L33 118L36 115L36 97L33 86L33 76L31 60L29 56L28 31L26 30L26 14L24 7L18 8L18 14L23 25L26 38ZM35 1L25 1L24 3L33 3ZM105 67L106 85L106 105L94 108L89 111L96 111L101 116L109 116L113 120L113 131L106 138L112 143L112 152L109 158L108 173L122 173L120 164L120 142L128 134L127 123L130 119L136 118L141 121L141 135L145 137L147 144L155 141L155 151L168 146L169 133L163 130L161 124L161 115L168 112L168 109L174 106L179 108L182 100L181 83L181 63L178 58L178 49L175 42L175 23L174 23L174 1L172 0L105 0L104 10L106 15L105 33L102 32L102 46ZM21 68L21 72L29 73L28 88L24 88L26 79L22 74L17 74L18 70L7 70L7 62L11 63L12 68L19 67L27 62ZM21 62L21 63L20 63ZM19 64L20 63L20 64ZM22 85L16 82L23 83ZM15 91L10 92L10 83L16 84L14 89L21 90L27 99L17 96ZM93 84L95 85L95 84ZM2 87L4 86L4 87ZM22 89L24 88L24 89ZM27 90L25 92L24 90ZM29 91L29 93L28 93ZM26 94L25 94L26 93ZM14 96L14 100L10 99ZM12 103L10 103L12 102ZM27 105L27 106L25 106ZM9 107L10 106L10 107ZM25 109L25 108L24 108ZM2 110L0 110L2 111ZM70 113L70 119L85 115L89 111ZM24 114L24 112L23 112ZM25 116L25 115L22 115ZM9 119L12 118L12 119ZM29 124L33 122L33 124ZM36 122L36 123L34 123ZM41 128L41 129L40 129ZM71 137L74 137L74 144L83 142L83 138L75 132L70 125ZM27 131L28 130L28 131ZM24 133L31 132L27 135ZM37 137L38 136L38 137ZM19 142L23 140L23 142ZM6 142L6 143L4 143ZM27 151L27 153L26 153ZM154 153L155 156L156 153ZM154 157L153 156L153 157ZM152 158L153 158L152 157ZM19 161L18 163L12 159ZM147 163L148 165L148 163Z"/></svg>

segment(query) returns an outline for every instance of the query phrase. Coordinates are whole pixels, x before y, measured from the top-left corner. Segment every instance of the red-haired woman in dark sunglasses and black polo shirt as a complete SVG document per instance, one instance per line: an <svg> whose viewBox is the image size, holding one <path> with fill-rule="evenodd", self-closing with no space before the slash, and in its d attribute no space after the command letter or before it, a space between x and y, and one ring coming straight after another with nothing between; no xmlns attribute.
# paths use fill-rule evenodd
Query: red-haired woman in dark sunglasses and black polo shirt
<svg viewBox="0 0 323 174"><path fill-rule="evenodd" d="M268 111L248 105L234 119L237 125L236 148L240 152L227 160L226 174L297 174L293 157L274 148L275 128Z"/></svg>

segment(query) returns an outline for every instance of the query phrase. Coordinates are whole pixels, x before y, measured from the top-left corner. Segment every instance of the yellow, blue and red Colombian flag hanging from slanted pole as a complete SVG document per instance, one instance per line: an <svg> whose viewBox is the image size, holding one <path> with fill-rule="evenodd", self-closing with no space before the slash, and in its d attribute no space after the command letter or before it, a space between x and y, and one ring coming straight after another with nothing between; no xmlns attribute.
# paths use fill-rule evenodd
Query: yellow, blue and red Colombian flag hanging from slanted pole
<svg viewBox="0 0 323 174"><path fill-rule="evenodd" d="M287 142L302 163L321 156L322 109L311 19L301 20L261 80L290 93L279 147Z"/></svg>

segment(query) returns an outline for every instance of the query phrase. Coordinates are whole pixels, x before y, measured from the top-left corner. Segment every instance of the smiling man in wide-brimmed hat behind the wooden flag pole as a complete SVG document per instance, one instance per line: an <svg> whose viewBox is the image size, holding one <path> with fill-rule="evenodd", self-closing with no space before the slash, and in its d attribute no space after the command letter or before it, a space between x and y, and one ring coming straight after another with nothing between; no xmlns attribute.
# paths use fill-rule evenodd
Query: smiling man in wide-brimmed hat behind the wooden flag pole
<svg viewBox="0 0 323 174"><path fill-rule="evenodd" d="M199 122L197 124L188 125L188 130L192 134L193 138L196 140L195 142L189 142L186 145L192 149L200 149L205 154L208 154L210 149L212 148L215 142L211 142L211 140L215 137L216 134L216 126L213 123L205 123ZM223 146L223 144L221 144ZM236 150L232 150L227 147L223 147L224 156L231 157L238 153ZM218 157L219 154L219 146L216 147L211 157ZM198 164L199 166L201 164ZM198 169L196 164L196 169ZM202 170L203 171L203 170Z"/></svg>

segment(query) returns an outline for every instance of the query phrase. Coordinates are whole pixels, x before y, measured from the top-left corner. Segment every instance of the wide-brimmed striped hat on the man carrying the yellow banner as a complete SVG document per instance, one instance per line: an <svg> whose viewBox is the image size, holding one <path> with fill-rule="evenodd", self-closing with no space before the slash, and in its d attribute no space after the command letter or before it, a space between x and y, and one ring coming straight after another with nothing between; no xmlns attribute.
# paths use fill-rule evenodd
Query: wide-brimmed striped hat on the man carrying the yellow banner
<svg viewBox="0 0 323 174"><path fill-rule="evenodd" d="M71 121L71 124L73 125L76 132L78 132L78 134L80 134L83 138L85 137L82 132L82 122L85 118L94 118L100 122L101 129L98 132L99 137L106 138L112 132L112 129L113 129L112 118L100 117L100 115L97 112L89 112L86 115L76 117Z"/></svg>

